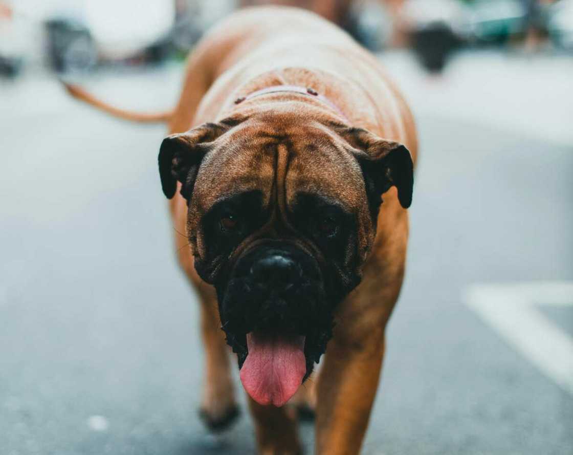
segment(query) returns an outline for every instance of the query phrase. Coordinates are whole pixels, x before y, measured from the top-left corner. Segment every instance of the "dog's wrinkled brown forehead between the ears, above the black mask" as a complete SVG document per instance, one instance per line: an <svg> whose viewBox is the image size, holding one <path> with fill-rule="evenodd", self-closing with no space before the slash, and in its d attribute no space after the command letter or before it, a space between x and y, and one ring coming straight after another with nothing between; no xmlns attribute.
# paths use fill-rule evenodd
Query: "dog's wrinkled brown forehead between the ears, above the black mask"
<svg viewBox="0 0 573 455"><path fill-rule="evenodd" d="M250 120L221 136L199 167L193 196L199 211L253 190L261 191L265 207L273 197L293 206L297 194L311 193L358 210L364 194L358 162L326 127L301 123Z"/></svg>

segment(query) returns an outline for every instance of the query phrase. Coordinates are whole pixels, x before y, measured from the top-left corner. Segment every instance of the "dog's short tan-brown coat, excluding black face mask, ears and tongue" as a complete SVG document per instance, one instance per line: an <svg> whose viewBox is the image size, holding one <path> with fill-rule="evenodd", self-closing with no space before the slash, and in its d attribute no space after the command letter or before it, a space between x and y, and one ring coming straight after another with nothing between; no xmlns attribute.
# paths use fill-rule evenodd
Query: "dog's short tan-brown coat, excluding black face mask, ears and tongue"
<svg viewBox="0 0 573 455"><path fill-rule="evenodd" d="M299 93L272 93L234 103L281 84L312 87L346 118ZM202 214L221 195L246 189L261 189L269 199L266 203L270 198L279 201L279 217L283 205L292 203L293 189L333 194L359 214L363 280L337 308L337 325L319 377L301 387L296 399L312 404L316 399L317 454L358 454L378 387L384 328L402 285L408 215L397 189L391 187L384 194L374 232L360 168L340 150L344 141L336 131L345 125L363 128L405 144L415 160L413 118L376 58L345 33L312 13L263 7L231 15L202 39L187 65L169 130L182 133L223 120L234 126L217 140L217 153L209 155L215 158L201 163L189 214L187 201L179 194L170 201L175 229L187 232L193 246L192 251L187 238L175 236L179 263L201 301L206 350L203 410L217 419L236 401L217 297L194 268L194 254L201 256L203 249ZM276 153L266 154L269 146ZM314 165L308 166L309 162ZM261 454L299 452L294 415L288 407L264 407L252 400L250 407Z"/></svg>

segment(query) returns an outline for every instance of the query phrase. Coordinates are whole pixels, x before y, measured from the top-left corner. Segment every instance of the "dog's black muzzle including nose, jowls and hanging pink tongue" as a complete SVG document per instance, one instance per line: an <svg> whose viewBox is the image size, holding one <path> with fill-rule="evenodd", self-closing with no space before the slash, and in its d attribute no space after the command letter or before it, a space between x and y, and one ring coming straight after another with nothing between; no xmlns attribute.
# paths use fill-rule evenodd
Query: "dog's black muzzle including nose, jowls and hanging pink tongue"
<svg viewBox="0 0 573 455"><path fill-rule="evenodd" d="M261 405L282 406L312 373L332 336L336 298L317 261L291 245L262 245L215 285L241 382Z"/></svg>

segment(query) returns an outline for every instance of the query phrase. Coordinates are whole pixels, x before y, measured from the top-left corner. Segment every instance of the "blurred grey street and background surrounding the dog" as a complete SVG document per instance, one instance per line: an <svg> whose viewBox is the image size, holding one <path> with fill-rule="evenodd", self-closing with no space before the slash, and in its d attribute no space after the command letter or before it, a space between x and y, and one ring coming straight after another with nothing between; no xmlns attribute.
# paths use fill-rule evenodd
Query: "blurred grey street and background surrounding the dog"
<svg viewBox="0 0 573 455"><path fill-rule="evenodd" d="M59 80L171 108L205 30L260 3L346 29L418 124L407 276L363 453L573 454L571 0L0 0L0 453L254 453L244 399L223 435L197 416L164 126L105 116Z"/></svg>

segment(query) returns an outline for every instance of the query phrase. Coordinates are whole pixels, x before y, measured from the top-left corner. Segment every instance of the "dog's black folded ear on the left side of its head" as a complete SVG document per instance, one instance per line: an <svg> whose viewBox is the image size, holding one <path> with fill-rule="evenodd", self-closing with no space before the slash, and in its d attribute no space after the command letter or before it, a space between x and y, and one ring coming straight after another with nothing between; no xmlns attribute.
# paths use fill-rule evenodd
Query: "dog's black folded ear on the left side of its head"
<svg viewBox="0 0 573 455"><path fill-rule="evenodd" d="M163 139L159 148L159 176L163 194L168 199L175 195L177 182L181 182L181 195L190 201L203 156L211 150L211 143L228 129L219 123L203 123L193 130Z"/></svg>

